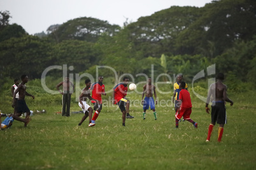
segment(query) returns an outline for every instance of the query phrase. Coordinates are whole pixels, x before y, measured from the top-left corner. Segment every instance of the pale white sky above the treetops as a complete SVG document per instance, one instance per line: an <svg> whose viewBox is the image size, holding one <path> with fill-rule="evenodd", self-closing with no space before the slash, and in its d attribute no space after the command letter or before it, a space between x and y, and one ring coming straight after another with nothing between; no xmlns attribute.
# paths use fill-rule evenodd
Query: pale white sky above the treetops
<svg viewBox="0 0 256 170"><path fill-rule="evenodd" d="M136 22L141 16L171 6L203 7L206 3L211 0L0 0L0 11L10 11L11 24L17 23L35 34L46 32L50 25L84 16L123 26L126 18Z"/></svg>

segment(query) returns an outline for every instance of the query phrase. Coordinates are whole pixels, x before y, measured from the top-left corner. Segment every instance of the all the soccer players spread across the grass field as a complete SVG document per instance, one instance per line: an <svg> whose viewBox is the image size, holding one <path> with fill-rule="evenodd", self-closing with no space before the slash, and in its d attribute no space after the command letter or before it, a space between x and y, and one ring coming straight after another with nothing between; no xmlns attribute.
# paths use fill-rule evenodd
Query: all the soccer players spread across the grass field
<svg viewBox="0 0 256 170"><path fill-rule="evenodd" d="M22 82L18 84L17 80L15 80L15 84L12 87L13 92L13 107L14 113L8 115L3 122L1 122L1 128L8 128L11 126L13 120L24 122L24 126L27 126L31 119L29 118L30 110L25 103L25 96L31 96L34 99L33 95L30 95L26 92L25 83L28 81L27 75L22 75ZM175 108L175 118L176 118L176 128L178 128L178 123L181 121L183 117L183 121L191 122L195 128L197 128L197 122L192 121L190 119L190 114L192 113L192 103L190 99L190 93L188 92L187 83L182 81L183 75L177 75L177 81L174 83L174 93L173 93L173 102ZM211 104L211 124L208 128L208 137L206 141L210 141L211 131L213 130L213 126L215 126L216 122L220 124L218 128L218 141L221 141L222 134L224 131L224 124L227 122L227 117L225 113L225 101L231 103L233 105L233 101L227 97L227 86L223 84L224 74L220 73L217 75L217 82L211 84L210 89L208 91L208 98L206 101L206 112L210 114L210 108L208 107L210 100ZM125 126L125 119L134 118L129 114L129 104L130 101L125 98L127 95L127 85L129 84L129 78L124 77L123 82L115 85L113 87L113 104L118 105L122 112L122 126ZM60 86L63 86L63 91L59 89ZM59 90L60 94L62 94L62 116L69 116L69 108L70 108L70 98L71 94L74 91L74 85L69 81L69 78L66 77L65 81L57 84L56 88ZM92 91L92 96L90 96L90 91ZM18 94L18 96L17 96ZM102 95L106 95L105 86L103 84L103 76L98 77L98 82L94 82L91 84L90 79L85 80L85 88L83 88L81 95L79 96L79 107L83 110L82 120L79 122L78 126L81 126L83 121L89 117L89 127L96 125L96 119L99 116L102 110ZM155 96L155 101L153 99L153 95ZM144 98L145 96L145 98ZM94 109L90 107L87 103L87 98L93 103ZM155 111L155 104L157 104L157 94L155 92L155 86L152 84L152 78L148 78L147 84L143 86L143 95L141 99L141 103L143 104L143 119L146 119L146 110L150 109L153 111L153 115L155 120L157 120L157 112ZM67 105L67 108L66 108ZM95 110L94 115L92 117L92 112ZM25 119L21 119L20 115L22 113L26 113Z"/></svg>

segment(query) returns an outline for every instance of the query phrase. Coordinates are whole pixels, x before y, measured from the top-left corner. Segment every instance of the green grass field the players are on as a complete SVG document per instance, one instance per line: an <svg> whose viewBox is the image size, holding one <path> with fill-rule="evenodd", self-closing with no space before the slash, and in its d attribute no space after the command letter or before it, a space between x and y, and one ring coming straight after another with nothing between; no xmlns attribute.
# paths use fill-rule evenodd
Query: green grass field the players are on
<svg viewBox="0 0 256 170"><path fill-rule="evenodd" d="M32 84L32 83L31 83ZM10 129L0 131L0 169L255 169L255 92L229 93L234 106L227 105L228 124L224 127L222 142L217 142L217 126L211 141L206 143L210 115L204 102L194 93L191 118L174 129L173 107L157 105L157 121L147 111L142 119L142 108L132 103L130 114L122 126L122 114L117 106L105 106L96 126L89 128L88 120L78 126L83 114L62 117L60 95L45 93L38 86L27 85L27 91L36 96L27 97L31 110L45 109L45 114L31 117L27 128L13 122ZM111 86L110 88L112 88ZM169 87L164 87L167 90ZM11 112L10 89L1 92L2 112ZM201 90L206 96L207 90ZM9 96L8 96L9 95ZM159 101L170 95L159 96ZM104 97L105 100L111 94ZM249 99L248 96L251 98ZM130 100L141 95L127 95ZM71 112L80 111L78 103L71 103ZM3 117L2 117L3 121Z"/></svg>

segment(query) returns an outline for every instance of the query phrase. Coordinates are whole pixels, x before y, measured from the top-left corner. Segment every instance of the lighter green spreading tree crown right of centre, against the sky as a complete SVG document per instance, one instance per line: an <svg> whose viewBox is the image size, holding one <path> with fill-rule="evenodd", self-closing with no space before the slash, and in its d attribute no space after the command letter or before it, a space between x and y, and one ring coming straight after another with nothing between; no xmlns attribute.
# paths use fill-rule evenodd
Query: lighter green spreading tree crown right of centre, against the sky
<svg viewBox="0 0 256 170"><path fill-rule="evenodd" d="M175 55L176 38L200 16L196 7L172 6L138 19L125 27L137 51L145 57Z"/></svg>

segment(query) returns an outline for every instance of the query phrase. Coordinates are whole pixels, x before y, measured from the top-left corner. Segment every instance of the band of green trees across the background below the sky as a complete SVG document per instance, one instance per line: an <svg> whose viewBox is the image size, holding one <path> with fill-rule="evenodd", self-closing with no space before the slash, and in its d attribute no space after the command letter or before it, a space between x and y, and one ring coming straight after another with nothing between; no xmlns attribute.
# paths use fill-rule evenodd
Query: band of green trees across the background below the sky
<svg viewBox="0 0 256 170"><path fill-rule="evenodd" d="M81 17L29 35L0 12L0 78L41 77L51 65L95 75L107 65L118 75L183 73L188 80L215 63L234 82L256 82L256 1L211 1L202 8L171 6L137 22L111 25ZM100 70L111 76L110 70ZM50 72L56 76L59 72Z"/></svg>

